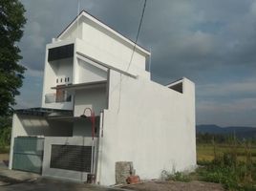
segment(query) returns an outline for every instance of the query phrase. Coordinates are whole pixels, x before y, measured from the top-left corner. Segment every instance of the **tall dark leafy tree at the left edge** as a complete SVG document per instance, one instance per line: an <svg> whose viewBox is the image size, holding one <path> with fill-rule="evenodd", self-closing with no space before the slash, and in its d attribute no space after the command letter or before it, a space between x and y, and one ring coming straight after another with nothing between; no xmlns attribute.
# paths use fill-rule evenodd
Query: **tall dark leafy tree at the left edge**
<svg viewBox="0 0 256 191"><path fill-rule="evenodd" d="M26 23L24 13L18 0L0 1L0 117L11 114L26 70L18 64L22 56L17 46Z"/></svg>

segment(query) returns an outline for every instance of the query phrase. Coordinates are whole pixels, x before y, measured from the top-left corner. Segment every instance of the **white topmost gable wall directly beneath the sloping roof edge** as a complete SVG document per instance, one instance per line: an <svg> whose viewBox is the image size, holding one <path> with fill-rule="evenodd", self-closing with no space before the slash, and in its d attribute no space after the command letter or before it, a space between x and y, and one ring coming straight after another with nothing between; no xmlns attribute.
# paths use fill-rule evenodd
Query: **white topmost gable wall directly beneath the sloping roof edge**
<svg viewBox="0 0 256 191"><path fill-rule="evenodd" d="M87 50L83 50L84 53L86 52L85 54L96 59L103 55L112 57L117 60L117 62L112 64L118 65L117 68L119 69L128 70L135 45L134 42L109 28L86 12L81 12L75 21L58 36L57 40L65 41L75 38L81 39L87 46L94 49L91 53L87 52ZM140 73L140 75L149 77L149 74L145 73L145 61L149 54L150 53L137 46L130 70L135 70ZM106 62L108 60L103 59L103 61Z"/></svg>

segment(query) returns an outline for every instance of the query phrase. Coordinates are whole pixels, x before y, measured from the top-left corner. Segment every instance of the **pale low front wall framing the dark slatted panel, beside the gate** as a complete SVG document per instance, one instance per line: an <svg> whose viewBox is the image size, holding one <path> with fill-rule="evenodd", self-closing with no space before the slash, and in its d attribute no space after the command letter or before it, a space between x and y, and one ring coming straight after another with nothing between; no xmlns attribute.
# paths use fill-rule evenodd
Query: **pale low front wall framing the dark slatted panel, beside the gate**
<svg viewBox="0 0 256 191"><path fill-rule="evenodd" d="M79 172L73 170L64 170L51 168L51 151L52 145L76 145L76 146L92 146L95 145L95 157L94 157L94 169L96 166L96 153L97 153L97 138L95 138L94 143L92 138L88 137L67 137L67 138L59 138L59 137L46 137L44 144L44 158L43 158L43 171L42 176L46 177L54 177L54 178L62 178L68 180L77 180L77 181L86 181L87 180L87 172Z"/></svg>

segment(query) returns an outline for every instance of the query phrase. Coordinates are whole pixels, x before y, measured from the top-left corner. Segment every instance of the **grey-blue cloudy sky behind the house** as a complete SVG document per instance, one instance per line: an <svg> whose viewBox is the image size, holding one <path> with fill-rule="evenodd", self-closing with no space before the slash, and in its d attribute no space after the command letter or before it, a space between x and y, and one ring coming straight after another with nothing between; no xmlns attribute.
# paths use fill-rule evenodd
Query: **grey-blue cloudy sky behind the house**
<svg viewBox="0 0 256 191"><path fill-rule="evenodd" d="M16 108L40 106L45 45L75 18L78 0L21 0L28 18L19 43L28 70ZM135 39L143 0L80 0ZM139 44L152 53L152 79L196 83L197 124L256 127L256 0L148 0Z"/></svg>

